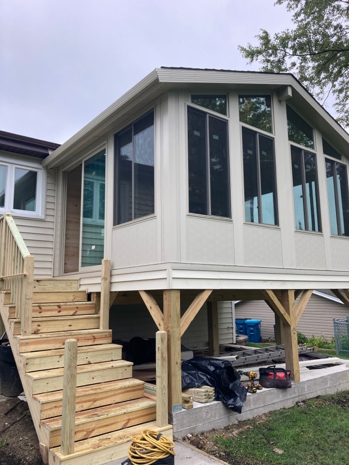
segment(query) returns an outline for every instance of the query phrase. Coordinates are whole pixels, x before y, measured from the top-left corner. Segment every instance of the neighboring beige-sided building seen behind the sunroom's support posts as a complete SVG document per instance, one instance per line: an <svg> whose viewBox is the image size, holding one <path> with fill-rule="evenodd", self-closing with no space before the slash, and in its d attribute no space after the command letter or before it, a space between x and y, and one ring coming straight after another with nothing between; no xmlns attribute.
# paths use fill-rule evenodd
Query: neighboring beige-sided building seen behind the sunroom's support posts
<svg viewBox="0 0 349 465"><path fill-rule="evenodd" d="M346 318L349 310L343 302L326 290L313 291L301 318L297 330L308 339L324 336L326 341L334 338L333 318ZM235 302L236 318L257 318L262 320L261 339L273 340L275 314L263 300Z"/></svg>

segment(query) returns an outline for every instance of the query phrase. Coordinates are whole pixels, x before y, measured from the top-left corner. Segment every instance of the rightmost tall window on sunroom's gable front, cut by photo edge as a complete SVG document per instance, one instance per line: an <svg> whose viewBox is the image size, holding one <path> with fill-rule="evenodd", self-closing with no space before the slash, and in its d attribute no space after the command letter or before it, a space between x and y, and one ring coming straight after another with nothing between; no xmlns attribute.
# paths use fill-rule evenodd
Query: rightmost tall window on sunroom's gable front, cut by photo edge
<svg viewBox="0 0 349 465"><path fill-rule="evenodd" d="M347 167L326 158L327 194L331 233L349 236L349 197Z"/></svg>

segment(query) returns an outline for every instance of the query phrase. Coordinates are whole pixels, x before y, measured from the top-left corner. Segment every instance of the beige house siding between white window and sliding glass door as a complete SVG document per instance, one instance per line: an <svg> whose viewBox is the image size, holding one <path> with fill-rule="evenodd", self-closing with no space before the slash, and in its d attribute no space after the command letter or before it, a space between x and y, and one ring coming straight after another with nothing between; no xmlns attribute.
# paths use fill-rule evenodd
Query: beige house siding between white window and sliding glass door
<svg viewBox="0 0 349 465"><path fill-rule="evenodd" d="M50 278L53 263L56 171L47 173L45 219L14 217L29 252L34 255L36 278Z"/></svg>

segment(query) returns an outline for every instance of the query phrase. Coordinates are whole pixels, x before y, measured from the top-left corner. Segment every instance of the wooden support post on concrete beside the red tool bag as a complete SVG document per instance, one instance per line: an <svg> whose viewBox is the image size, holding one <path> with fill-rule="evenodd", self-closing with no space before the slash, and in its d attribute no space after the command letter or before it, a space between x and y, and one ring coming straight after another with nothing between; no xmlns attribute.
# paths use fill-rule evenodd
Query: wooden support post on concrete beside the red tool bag
<svg viewBox="0 0 349 465"><path fill-rule="evenodd" d="M298 342L297 342L297 320L294 291L281 291L281 304L289 316L289 322L284 322L285 334L285 363L286 368L291 370L291 376L296 383L301 381Z"/></svg>

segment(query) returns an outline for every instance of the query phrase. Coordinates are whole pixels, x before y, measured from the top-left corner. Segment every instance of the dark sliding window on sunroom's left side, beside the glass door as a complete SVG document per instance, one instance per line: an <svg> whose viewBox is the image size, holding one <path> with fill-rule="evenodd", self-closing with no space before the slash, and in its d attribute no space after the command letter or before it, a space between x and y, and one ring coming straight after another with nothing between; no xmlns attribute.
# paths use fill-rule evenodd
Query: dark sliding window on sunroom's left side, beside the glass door
<svg viewBox="0 0 349 465"><path fill-rule="evenodd" d="M115 135L114 225L154 214L154 112Z"/></svg>

